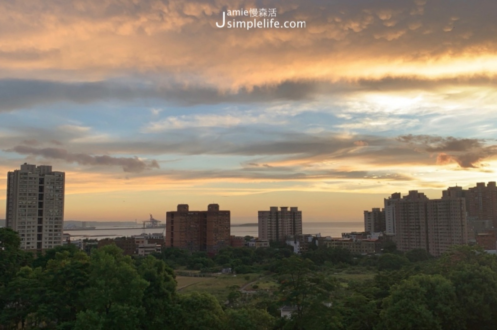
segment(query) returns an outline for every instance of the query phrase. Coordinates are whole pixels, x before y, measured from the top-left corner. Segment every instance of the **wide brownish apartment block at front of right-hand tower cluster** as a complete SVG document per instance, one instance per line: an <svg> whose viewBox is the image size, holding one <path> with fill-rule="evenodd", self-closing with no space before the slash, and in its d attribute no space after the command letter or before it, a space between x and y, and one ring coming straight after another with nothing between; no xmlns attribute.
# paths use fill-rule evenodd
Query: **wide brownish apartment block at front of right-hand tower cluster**
<svg viewBox="0 0 497 330"><path fill-rule="evenodd" d="M458 196L445 193L430 200L413 190L402 198L396 193L386 199L387 223L389 218L395 222L397 249L424 249L439 256L452 245L467 244L466 202Z"/></svg>

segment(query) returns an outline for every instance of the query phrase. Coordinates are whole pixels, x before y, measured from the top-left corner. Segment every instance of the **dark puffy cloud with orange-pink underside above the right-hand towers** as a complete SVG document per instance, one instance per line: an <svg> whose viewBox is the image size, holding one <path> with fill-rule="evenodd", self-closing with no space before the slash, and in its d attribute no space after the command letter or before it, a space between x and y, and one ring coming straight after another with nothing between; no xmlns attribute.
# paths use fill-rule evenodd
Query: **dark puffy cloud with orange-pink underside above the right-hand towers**
<svg viewBox="0 0 497 330"><path fill-rule="evenodd" d="M483 160L497 155L497 145L487 145L484 139L441 137L432 135L403 135L399 141L409 143L416 150L437 154L436 163L457 163L463 168L482 167Z"/></svg>

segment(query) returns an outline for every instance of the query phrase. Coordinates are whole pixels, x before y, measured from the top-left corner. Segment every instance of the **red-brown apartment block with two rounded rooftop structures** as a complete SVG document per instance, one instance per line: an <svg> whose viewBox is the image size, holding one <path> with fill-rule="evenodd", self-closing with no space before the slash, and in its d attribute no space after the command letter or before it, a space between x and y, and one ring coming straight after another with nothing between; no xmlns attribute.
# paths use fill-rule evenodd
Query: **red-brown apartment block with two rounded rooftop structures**
<svg viewBox="0 0 497 330"><path fill-rule="evenodd" d="M190 211L179 204L177 211L166 212L166 247L216 253L230 246L230 211L209 204L207 211Z"/></svg>

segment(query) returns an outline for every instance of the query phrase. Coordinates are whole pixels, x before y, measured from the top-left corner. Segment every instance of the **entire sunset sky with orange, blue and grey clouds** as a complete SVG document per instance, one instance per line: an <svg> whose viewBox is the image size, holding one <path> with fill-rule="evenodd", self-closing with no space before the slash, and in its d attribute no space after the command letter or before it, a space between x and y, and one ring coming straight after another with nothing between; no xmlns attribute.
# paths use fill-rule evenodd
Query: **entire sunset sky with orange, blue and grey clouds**
<svg viewBox="0 0 497 330"><path fill-rule="evenodd" d="M0 218L23 163L66 172L66 220L217 203L234 223L270 206L361 221L395 192L496 181L496 12L494 0L0 1Z"/></svg>

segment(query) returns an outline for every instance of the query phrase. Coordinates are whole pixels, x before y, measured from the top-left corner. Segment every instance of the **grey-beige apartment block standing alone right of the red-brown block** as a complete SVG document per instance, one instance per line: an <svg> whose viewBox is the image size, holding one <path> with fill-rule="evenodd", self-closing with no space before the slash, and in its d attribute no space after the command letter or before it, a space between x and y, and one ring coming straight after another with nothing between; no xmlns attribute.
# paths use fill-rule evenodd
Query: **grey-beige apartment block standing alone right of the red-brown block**
<svg viewBox="0 0 497 330"><path fill-rule="evenodd" d="M284 242L286 236L302 234L302 211L297 207L272 206L258 212L259 239Z"/></svg>

